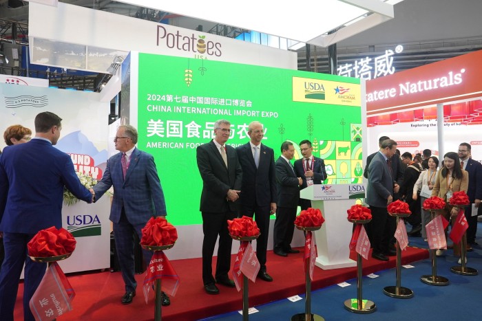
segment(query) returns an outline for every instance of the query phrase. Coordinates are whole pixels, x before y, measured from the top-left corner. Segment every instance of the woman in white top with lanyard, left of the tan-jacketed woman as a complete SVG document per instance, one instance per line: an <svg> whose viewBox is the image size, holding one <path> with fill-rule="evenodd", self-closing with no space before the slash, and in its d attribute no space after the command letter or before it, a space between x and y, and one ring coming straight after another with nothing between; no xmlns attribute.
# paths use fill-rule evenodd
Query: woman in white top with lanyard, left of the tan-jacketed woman
<svg viewBox="0 0 482 321"><path fill-rule="evenodd" d="M412 199L417 200L417 194L420 192L420 204L421 204L421 232L423 241L427 241L427 232L425 225L430 222L430 212L423 210L423 202L430 197L432 189L435 185L435 179L437 178L437 170L439 166L439 159L435 156L428 157L428 170L423 170L419 179L413 186Z"/></svg>

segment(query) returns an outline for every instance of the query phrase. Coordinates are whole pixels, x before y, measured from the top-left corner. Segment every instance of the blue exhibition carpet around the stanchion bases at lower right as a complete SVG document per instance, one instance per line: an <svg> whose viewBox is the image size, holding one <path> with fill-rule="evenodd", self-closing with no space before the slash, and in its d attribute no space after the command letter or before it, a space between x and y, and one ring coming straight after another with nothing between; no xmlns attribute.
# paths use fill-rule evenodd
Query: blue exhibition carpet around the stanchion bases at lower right
<svg viewBox="0 0 482 321"><path fill-rule="evenodd" d="M410 228L408 228L410 230ZM428 243L421 237L409 237L410 245L428 248ZM480 245L468 252L468 267L473 267L482 274L482 224L479 223L477 241ZM357 279L346 280L348 287L331 285L312 292L311 312L325 320L481 320L482 276L461 276L450 272L450 267L457 264L458 258L452 250L437 258L437 275L445 276L450 284L432 286L422 283L421 275L431 274L430 258L410 263L412 268L401 268L401 286L414 292L413 298L390 298L384 294L384 287L395 285L395 269L375 272L379 277L363 278L363 298L372 300L377 310L370 314L356 314L344 309L344 301L357 296ZM283 299L266 305L256 306L258 312L249 315L249 320L290 320L297 313L304 313L303 300L291 302ZM204 320L242 320L238 311Z"/></svg>

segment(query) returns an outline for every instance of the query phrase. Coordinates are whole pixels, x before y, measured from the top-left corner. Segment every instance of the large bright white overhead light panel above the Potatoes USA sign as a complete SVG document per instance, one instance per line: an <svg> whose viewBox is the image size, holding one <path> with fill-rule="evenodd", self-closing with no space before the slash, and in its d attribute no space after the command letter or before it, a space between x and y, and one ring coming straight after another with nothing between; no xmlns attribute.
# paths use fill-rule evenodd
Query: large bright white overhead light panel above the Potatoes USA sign
<svg viewBox="0 0 482 321"><path fill-rule="evenodd" d="M403 0L244 0L234 8L224 0L119 1L328 47L392 19Z"/></svg>

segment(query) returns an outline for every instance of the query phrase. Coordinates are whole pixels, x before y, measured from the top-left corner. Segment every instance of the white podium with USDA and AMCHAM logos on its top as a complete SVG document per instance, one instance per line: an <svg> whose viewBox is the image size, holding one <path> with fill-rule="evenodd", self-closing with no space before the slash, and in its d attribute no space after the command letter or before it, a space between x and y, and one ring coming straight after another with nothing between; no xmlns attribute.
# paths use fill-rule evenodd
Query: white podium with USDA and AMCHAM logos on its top
<svg viewBox="0 0 482 321"><path fill-rule="evenodd" d="M325 222L315 231L317 258L315 265L322 269L355 267L348 247L353 223L346 219L348 210L356 199L365 197L362 184L315 184L300 191L302 199L310 199L312 208L322 211Z"/></svg>

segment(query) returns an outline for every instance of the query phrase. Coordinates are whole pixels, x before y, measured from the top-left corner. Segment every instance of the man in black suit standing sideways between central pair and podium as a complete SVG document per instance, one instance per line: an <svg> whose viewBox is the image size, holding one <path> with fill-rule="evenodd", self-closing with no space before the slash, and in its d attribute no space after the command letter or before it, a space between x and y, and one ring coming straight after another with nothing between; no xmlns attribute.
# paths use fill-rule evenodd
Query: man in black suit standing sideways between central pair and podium
<svg viewBox="0 0 482 321"><path fill-rule="evenodd" d="M274 250L279 256L296 253L291 249L291 240L295 231L296 211L300 201L301 177L296 177L295 168L290 160L295 155L295 147L291 142L281 144L282 155L276 161L277 208L273 229Z"/></svg>

